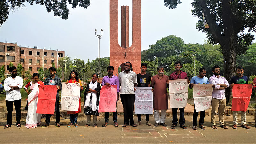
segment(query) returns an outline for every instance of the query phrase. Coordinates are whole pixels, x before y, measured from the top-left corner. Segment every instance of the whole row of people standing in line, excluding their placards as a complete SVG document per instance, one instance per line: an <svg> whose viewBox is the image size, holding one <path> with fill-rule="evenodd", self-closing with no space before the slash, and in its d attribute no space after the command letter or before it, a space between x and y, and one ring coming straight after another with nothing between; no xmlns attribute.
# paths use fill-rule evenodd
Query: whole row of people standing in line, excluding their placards
<svg viewBox="0 0 256 144"><path fill-rule="evenodd" d="M248 78L243 76L244 68L242 66L238 66L236 68L237 75L231 78L231 82L228 81L220 76L220 67L213 66L212 72L213 76L211 76L208 80L206 75L206 70L204 68L199 69L199 75L192 77L191 81L189 81L187 73L181 71L182 63L177 61L174 63L175 71L170 75L164 75L164 67L158 66L157 72L155 76L152 77L146 73L147 64L142 63L140 66L141 72L136 75L135 72L131 71L132 64L130 62L126 62L124 65L124 71L120 72L118 77L113 75L114 67L108 66L107 72L108 75L103 77L102 83L100 84L98 79L98 74L92 74L92 81L89 82L86 86L84 92L84 114L86 114L87 123L84 127L90 126L91 123L91 115L93 115L93 126L97 127L97 116L99 116L98 108L99 108L99 98L100 98L100 85L117 85L117 101L120 99L123 105L123 112L124 112L124 124L123 127L131 125L136 127L141 124L141 115L137 114L138 122L134 123L133 120L133 111L134 111L134 102L135 102L135 90L136 86L139 87L152 87L153 91L153 108L154 108L154 118L155 124L154 126L167 126L165 124L166 118L166 110L169 107L168 95L167 95L167 88L169 88L169 80L177 80L177 79L187 79L189 84L189 88L192 89L195 84L213 84L213 92L212 92L212 112L211 112L211 127L213 129L217 129L216 127L216 116L219 116L220 127L224 129L228 129L227 126L224 125L224 111L226 106L226 98L225 98L225 89L227 87L233 87L234 84L247 84ZM36 106L37 106L37 97L38 97L38 90L40 85L56 85L58 89L56 94L56 102L55 102L55 125L56 127L60 127L60 113L59 113L59 91L61 90L62 84L61 80L58 76L55 76L56 69L54 67L49 68L51 76L45 79L45 82L39 81L39 74L34 73L32 76L32 81L29 82L26 86L24 86L25 91L28 93L28 113L26 117L26 127L27 128L35 128L41 124L41 114L36 113ZM4 128L11 127L12 124L12 111L13 111L13 103L16 110L16 126L21 127L20 119L20 109L21 109L21 94L20 89L23 86L23 79L17 76L17 68L10 67L9 72L11 76L6 78L4 81L4 89L7 92L6 94L6 107L7 107L7 125ZM151 83L150 83L151 82ZM81 84L81 80L78 79L78 74L76 70L72 70L70 72L68 80L65 82L67 83L76 83L80 85L82 92L83 87ZM256 80L255 80L256 83ZM252 83L255 88L255 84ZM28 87L30 87L31 92L28 92ZM70 114L70 124L68 127L79 125L77 124L77 117L78 113L81 113L81 99L79 100L79 109L78 111L68 111ZM161 110L161 113L160 113ZM178 108L172 108L172 129L175 129L178 124L178 116L177 116ZM188 129L185 125L185 117L184 117L185 108L179 108L180 118L179 118L179 125L183 129ZM47 127L50 124L50 114L46 114L46 123L42 125L42 127ZM193 113L193 129L197 130L197 117L198 112L196 112L194 108ZM204 127L204 117L205 111L200 112L199 118L199 128L205 129ZM232 128L237 129L237 111L233 111L233 118L234 118L234 125ZM109 112L105 113L105 123L102 127L108 126L109 122ZM149 122L149 114L146 114L146 125L151 126ZM117 110L113 112L113 121L114 126L118 127L117 124ZM241 127L250 129L246 125L246 112L241 112ZM255 125L256 126L256 125Z"/></svg>

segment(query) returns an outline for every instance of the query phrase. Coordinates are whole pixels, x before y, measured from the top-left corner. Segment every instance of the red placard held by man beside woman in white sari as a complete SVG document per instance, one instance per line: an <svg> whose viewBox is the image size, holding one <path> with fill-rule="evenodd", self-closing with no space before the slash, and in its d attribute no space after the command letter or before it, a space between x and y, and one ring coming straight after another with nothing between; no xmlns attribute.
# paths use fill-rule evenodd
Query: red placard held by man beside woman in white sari
<svg viewBox="0 0 256 144"><path fill-rule="evenodd" d="M56 94L56 85L40 85L36 113L54 114Z"/></svg>

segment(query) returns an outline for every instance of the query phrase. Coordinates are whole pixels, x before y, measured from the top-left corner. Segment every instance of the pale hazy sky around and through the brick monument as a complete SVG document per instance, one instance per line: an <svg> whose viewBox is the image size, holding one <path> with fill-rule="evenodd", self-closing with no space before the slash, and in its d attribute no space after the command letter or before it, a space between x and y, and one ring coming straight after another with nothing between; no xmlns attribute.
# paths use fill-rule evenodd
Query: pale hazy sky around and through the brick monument
<svg viewBox="0 0 256 144"><path fill-rule="evenodd" d="M169 10L164 0L141 0L141 51L157 40L169 35L181 37L184 43L204 44L206 34L198 32L198 17L191 14L193 0L182 1L176 9ZM132 44L132 0L118 1L119 44L121 45L121 6L129 6L129 46ZM21 47L65 51L71 59L85 62L98 57L100 29L100 58L109 57L109 0L91 0L87 9L70 10L68 20L48 13L44 5L29 5L11 11L0 27L0 42L15 43ZM256 35L256 33L251 33ZM256 42L254 40L253 42Z"/></svg>

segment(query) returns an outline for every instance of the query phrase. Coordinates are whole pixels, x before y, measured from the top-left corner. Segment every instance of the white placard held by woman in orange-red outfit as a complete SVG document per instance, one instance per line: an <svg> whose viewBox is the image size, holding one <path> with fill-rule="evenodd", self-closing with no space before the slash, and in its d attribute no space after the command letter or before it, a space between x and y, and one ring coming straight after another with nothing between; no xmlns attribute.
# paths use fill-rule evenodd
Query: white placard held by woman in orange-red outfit
<svg viewBox="0 0 256 144"><path fill-rule="evenodd" d="M80 83L62 83L61 110L78 111L80 99Z"/></svg>

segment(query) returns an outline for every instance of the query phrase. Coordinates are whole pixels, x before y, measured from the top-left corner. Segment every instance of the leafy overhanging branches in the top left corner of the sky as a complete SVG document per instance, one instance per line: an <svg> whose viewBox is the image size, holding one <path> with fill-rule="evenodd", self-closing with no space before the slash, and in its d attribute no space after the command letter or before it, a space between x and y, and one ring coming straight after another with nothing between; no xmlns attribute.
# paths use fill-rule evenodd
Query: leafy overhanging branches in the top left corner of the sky
<svg viewBox="0 0 256 144"><path fill-rule="evenodd" d="M67 6L67 0L1 0L0 1L0 25L2 25L8 18L10 9L19 9L23 7L25 2L29 2L30 5L36 4L45 5L46 11L53 11L54 16L60 16L62 19L67 20L69 9ZM90 0L68 0L68 4L72 5L72 8L76 8L77 5L86 9L90 5Z"/></svg>

